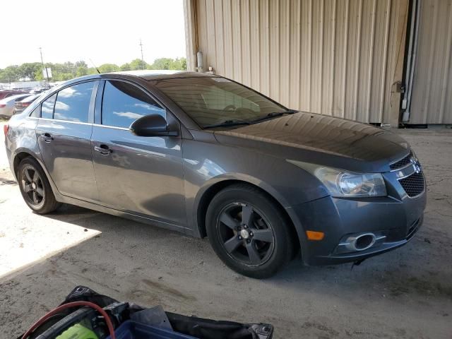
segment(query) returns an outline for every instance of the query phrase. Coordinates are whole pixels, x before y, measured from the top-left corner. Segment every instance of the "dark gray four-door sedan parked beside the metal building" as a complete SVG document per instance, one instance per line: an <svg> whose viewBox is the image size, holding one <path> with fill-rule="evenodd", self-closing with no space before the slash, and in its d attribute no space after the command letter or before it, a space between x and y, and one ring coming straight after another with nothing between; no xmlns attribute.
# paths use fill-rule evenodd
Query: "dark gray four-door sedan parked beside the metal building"
<svg viewBox="0 0 452 339"><path fill-rule="evenodd" d="M220 76L77 78L5 133L36 213L71 203L208 236L227 266L254 278L300 251L307 265L362 261L422 224L424 176L402 138L287 109Z"/></svg>

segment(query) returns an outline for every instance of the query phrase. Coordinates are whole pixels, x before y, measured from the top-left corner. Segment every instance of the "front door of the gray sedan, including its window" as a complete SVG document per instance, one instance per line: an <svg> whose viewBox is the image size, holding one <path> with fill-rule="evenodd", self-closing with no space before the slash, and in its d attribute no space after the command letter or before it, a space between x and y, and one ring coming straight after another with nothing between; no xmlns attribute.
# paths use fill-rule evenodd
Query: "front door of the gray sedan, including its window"
<svg viewBox="0 0 452 339"><path fill-rule="evenodd" d="M98 96L102 105L96 100L91 143L100 201L183 227L182 138L135 136L129 131L133 121L148 114L160 114L178 129L179 122L148 93L126 81L105 81Z"/></svg>

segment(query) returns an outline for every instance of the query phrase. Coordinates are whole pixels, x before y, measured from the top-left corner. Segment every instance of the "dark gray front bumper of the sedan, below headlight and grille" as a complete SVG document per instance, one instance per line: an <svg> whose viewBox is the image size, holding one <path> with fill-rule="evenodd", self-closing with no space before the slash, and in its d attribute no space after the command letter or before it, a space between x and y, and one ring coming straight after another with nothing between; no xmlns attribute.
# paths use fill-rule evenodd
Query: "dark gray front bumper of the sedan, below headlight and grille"
<svg viewBox="0 0 452 339"><path fill-rule="evenodd" d="M361 261L403 246L419 230L427 201L425 192L416 198L332 198L292 207L297 216L299 230L323 232L321 241L309 241L305 234L299 238L302 258L307 265L329 265ZM380 240L369 249L345 249L344 239L369 232Z"/></svg>

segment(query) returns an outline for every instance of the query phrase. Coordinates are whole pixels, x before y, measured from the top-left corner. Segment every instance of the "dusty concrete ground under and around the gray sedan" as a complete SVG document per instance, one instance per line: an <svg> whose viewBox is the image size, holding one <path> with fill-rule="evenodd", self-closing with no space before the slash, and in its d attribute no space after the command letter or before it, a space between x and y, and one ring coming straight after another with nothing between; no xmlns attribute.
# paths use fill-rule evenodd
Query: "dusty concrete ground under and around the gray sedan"
<svg viewBox="0 0 452 339"><path fill-rule="evenodd" d="M396 133L427 176L414 239L353 269L293 262L268 280L226 268L207 239L75 206L31 213L16 184L1 184L11 174L0 140L0 338L16 338L76 285L182 314L272 323L274 338L452 338L452 130ZM5 262L22 253L28 263Z"/></svg>

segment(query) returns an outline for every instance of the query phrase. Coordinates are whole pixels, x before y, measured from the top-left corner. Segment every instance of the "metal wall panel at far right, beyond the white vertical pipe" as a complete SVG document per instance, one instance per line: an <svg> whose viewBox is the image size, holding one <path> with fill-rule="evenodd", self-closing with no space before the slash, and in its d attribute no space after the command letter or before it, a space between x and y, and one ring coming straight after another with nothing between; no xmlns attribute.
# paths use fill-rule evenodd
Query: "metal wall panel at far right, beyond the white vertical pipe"
<svg viewBox="0 0 452 339"><path fill-rule="evenodd" d="M452 0L420 1L409 124L452 124Z"/></svg>

